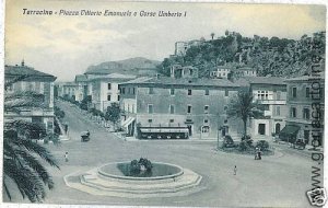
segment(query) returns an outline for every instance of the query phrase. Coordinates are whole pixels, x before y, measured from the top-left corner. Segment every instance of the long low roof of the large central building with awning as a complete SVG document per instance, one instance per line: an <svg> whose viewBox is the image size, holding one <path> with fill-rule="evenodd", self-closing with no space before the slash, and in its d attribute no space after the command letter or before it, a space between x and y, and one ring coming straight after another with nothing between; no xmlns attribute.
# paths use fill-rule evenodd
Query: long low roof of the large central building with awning
<svg viewBox="0 0 328 208"><path fill-rule="evenodd" d="M238 88L239 85L233 83L225 79L197 79L197 78L139 78L125 82L122 84L138 84L138 85L149 85L149 84L159 84L159 85L190 85L190 86L221 86L221 88Z"/></svg>

